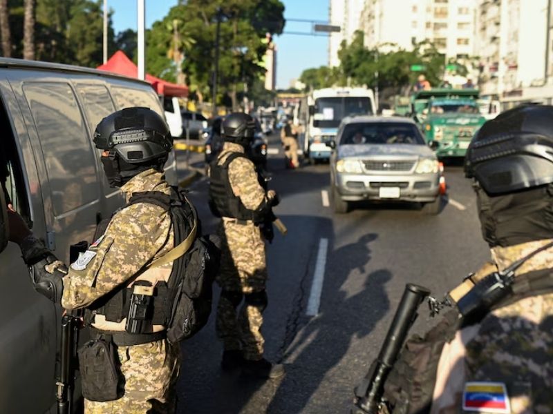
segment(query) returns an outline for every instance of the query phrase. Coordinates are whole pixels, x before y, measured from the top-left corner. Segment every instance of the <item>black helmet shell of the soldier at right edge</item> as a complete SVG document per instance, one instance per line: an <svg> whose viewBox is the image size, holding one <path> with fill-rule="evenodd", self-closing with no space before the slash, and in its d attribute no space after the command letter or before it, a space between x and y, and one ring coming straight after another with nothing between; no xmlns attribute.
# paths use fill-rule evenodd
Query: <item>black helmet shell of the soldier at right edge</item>
<svg viewBox="0 0 553 414"><path fill-rule="evenodd" d="M519 106L487 121L467 150L465 175L489 195L552 183L553 106Z"/></svg>

